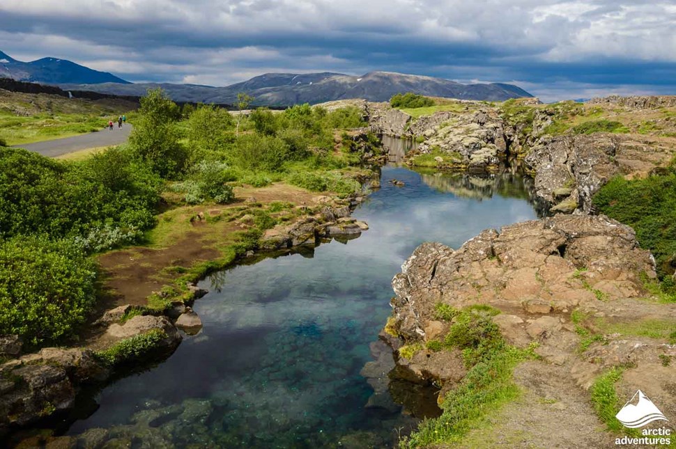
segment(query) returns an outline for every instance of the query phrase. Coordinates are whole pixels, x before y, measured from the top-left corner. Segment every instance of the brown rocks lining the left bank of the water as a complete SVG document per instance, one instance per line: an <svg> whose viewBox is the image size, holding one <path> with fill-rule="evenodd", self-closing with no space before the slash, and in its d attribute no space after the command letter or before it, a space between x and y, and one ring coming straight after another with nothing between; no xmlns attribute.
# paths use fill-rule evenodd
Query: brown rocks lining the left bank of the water
<svg viewBox="0 0 676 449"><path fill-rule="evenodd" d="M368 181L372 188L379 186L377 178ZM358 237L369 226L350 214L364 199L358 195L316 197L316 206L304 206L305 214L298 219L268 230L260 239L258 254L275 255L331 239ZM245 257L254 255L249 251ZM19 338L2 336L0 356L10 360L0 364L0 436L66 416L82 388L105 385L134 364L147 365L169 357L183 340L183 333L194 335L201 329L201 320L191 306L207 291L195 283L188 283L186 290L182 299L171 301L162 311L131 305L107 310L93 323L100 329L99 336L87 347L47 347L22 355Z"/></svg>

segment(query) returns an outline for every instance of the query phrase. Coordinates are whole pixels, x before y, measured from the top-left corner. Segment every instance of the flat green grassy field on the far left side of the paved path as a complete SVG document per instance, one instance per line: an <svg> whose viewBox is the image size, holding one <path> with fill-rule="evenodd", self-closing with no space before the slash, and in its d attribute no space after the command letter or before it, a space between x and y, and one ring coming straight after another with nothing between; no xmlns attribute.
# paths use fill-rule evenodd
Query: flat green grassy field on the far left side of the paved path
<svg viewBox="0 0 676 449"><path fill-rule="evenodd" d="M123 100L70 100L0 89L0 139L20 145L98 131L135 107Z"/></svg>

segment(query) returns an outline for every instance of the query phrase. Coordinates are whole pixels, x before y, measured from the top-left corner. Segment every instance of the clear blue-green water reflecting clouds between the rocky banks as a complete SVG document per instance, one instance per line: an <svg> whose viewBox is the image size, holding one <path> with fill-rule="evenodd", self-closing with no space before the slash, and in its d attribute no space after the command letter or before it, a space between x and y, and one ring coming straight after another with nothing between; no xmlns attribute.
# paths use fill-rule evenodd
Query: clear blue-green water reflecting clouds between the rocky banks
<svg viewBox="0 0 676 449"><path fill-rule="evenodd" d="M387 182L393 178L406 186ZM353 213L371 227L358 239L203 281L212 290L194 305L203 331L158 367L103 389L98 410L68 434L89 430L139 447L392 444L396 429L406 432L415 419L365 408L373 388L360 375L390 313L392 276L422 242L457 248L485 228L536 214L513 175L385 167L381 183Z"/></svg>

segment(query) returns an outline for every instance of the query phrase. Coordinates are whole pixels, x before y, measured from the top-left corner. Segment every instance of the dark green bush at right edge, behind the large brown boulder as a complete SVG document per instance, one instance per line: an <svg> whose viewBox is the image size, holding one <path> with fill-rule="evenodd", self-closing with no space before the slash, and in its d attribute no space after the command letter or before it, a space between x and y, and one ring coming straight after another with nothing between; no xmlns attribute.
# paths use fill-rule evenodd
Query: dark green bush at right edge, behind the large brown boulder
<svg viewBox="0 0 676 449"><path fill-rule="evenodd" d="M613 178L594 196L594 205L636 230L640 246L655 256L660 278L669 281L676 270L676 168L640 180Z"/></svg>

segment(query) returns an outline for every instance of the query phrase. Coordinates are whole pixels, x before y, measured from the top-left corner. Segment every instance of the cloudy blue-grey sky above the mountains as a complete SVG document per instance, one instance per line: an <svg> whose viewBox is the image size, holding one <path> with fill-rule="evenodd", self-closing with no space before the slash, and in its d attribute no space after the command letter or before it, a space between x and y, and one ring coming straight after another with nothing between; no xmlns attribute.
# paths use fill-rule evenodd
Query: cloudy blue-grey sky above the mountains
<svg viewBox="0 0 676 449"><path fill-rule="evenodd" d="M550 101L676 94L676 0L1 0L0 50L130 81L387 70Z"/></svg>

